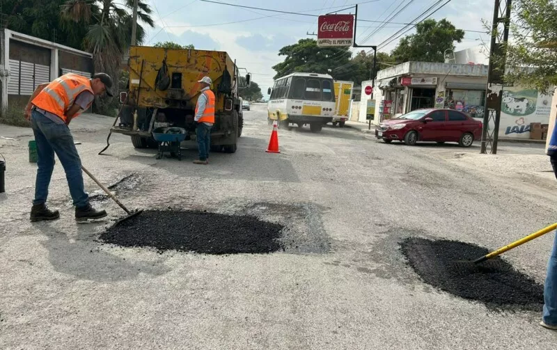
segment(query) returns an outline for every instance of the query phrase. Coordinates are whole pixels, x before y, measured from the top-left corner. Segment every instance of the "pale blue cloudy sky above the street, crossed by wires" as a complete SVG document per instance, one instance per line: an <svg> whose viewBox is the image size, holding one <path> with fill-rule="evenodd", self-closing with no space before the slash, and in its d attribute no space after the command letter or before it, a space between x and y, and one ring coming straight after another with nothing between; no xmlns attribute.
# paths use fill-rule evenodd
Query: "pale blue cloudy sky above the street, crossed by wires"
<svg viewBox="0 0 557 350"><path fill-rule="evenodd" d="M322 15L333 10L340 10L354 3L361 3L358 8L359 19L383 21L399 5L398 15L391 22L411 22L423 10L432 6L435 0L414 0L405 10L410 0L225 0L243 6L271 8L274 10ZM306 35L317 31L317 17L292 14L271 13L263 10L235 8L201 0L147 0L154 10L153 18L157 27L149 29L148 42L152 45L158 41L172 40L182 45L194 44L196 49L217 49L227 51L237 60L240 67L246 67L253 73L253 81L260 84L265 94L272 84L274 70L272 66L283 61L278 56L278 49L290 45L302 38L315 38ZM366 3L367 2L367 3ZM485 31L482 21L490 21L493 16L492 0L453 0L431 16L434 19L447 18L460 29ZM339 8L339 6L343 6ZM344 13L348 13L345 11ZM392 16L392 15L391 15ZM240 22L241 21L241 22ZM237 23L230 23L237 22ZM359 45L378 45L402 28L400 24L386 24L386 27L374 33L379 23L358 22L356 42ZM466 49L489 41L485 34L467 31L464 41L457 49ZM413 33L409 31L407 34ZM391 51L398 40L386 45L379 51ZM354 50L355 51L355 50Z"/></svg>

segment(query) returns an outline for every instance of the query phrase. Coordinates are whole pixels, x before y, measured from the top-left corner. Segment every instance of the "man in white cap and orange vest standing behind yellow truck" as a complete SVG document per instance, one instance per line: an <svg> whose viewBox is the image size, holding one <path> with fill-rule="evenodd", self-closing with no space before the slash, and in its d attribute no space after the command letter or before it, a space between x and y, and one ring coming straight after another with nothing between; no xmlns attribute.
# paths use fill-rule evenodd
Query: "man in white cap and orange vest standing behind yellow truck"
<svg viewBox="0 0 557 350"><path fill-rule="evenodd" d="M214 124L214 93L210 90L212 80L203 77L198 83L201 84L201 94L197 99L196 116L197 123L197 146L199 148L199 159L194 164L209 164L209 150L211 148L211 128Z"/></svg>

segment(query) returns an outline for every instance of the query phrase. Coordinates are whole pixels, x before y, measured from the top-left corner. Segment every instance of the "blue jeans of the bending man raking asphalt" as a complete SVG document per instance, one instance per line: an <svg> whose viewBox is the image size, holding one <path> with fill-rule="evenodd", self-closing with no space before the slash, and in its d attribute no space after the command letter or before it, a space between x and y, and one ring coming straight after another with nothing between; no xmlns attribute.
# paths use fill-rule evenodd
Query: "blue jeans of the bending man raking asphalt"
<svg viewBox="0 0 557 350"><path fill-rule="evenodd" d="M74 138L68 125L56 124L38 111L33 110L31 112L31 127L37 143L38 159L33 205L40 205L47 201L50 177L52 177L52 170L54 170L54 153L56 152L64 167L65 177L68 180L75 207L86 207L89 196L84 189L81 159L77 154Z"/></svg>

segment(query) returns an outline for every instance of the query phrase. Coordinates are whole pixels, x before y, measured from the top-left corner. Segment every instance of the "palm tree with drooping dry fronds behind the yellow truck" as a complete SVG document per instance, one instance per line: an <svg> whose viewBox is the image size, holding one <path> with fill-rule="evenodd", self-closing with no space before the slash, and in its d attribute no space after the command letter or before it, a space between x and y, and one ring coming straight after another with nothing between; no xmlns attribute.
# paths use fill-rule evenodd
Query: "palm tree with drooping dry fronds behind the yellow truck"
<svg viewBox="0 0 557 350"><path fill-rule="evenodd" d="M120 62L130 47L132 38L132 8L134 0L125 0L124 5L116 0L68 0L61 15L76 23L84 22L89 29L84 38L84 47L93 54L95 72L105 72L118 81ZM139 21L155 26L152 10L147 3L138 1ZM136 42L140 45L146 31L137 25ZM97 104L102 103L97 100Z"/></svg>

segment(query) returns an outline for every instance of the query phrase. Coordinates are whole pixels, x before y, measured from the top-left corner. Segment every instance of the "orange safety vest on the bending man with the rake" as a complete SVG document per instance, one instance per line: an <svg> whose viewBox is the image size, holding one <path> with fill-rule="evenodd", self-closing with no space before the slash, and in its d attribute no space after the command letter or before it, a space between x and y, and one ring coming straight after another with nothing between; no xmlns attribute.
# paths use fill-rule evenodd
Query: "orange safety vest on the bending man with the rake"
<svg viewBox="0 0 557 350"><path fill-rule="evenodd" d="M91 88L91 80L78 74L68 73L49 83L31 103L40 109L56 114L64 122L68 122L68 118L65 116L66 111L73 106L77 95L84 91L95 95ZM93 104L93 101L88 104L86 109L91 104ZM79 110L75 113L73 118L79 116L82 111Z"/></svg>

